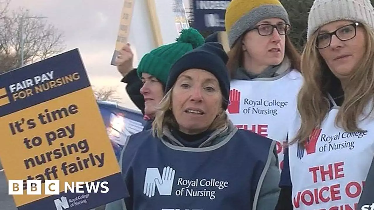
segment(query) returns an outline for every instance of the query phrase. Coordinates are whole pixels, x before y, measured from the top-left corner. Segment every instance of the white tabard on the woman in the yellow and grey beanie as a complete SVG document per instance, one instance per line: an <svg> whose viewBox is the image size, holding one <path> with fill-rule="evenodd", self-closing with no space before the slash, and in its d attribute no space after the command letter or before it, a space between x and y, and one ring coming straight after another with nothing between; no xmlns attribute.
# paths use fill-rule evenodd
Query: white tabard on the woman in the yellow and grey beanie
<svg viewBox="0 0 374 210"><path fill-rule="evenodd" d="M279 166L283 168L282 143L287 139L297 110L297 94L303 83L300 72L288 70L274 78L232 80L230 120L239 129L251 130L277 141Z"/></svg>

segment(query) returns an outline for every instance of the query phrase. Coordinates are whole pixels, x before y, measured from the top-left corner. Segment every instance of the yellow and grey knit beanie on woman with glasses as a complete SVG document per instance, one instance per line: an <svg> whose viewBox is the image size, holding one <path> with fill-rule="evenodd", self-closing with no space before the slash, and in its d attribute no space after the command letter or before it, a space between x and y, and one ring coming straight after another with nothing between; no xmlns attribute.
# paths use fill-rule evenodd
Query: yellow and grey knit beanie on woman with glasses
<svg viewBox="0 0 374 210"><path fill-rule="evenodd" d="M279 0L232 0L225 14L230 47L245 31L267 18L281 18L289 24L288 13Z"/></svg>

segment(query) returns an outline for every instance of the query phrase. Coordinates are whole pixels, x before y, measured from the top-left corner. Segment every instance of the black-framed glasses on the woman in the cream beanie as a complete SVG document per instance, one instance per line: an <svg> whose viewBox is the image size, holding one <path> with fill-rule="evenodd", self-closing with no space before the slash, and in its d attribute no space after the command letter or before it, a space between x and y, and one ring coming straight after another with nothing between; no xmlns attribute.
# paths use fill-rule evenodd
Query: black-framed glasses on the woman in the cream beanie
<svg viewBox="0 0 374 210"><path fill-rule="evenodd" d="M343 27L338 28L335 31L330 33L323 33L318 34L316 38L316 48L317 49L324 49L331 44L332 35L335 35L340 41L347 41L356 36L356 28L360 24L355 22L353 24L345 25Z"/></svg>

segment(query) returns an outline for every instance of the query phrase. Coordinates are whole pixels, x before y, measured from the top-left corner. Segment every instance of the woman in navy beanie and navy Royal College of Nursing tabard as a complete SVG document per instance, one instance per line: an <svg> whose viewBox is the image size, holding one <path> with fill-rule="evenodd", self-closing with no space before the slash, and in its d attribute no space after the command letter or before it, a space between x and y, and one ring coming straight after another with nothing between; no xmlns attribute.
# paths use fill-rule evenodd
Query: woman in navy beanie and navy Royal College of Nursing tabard
<svg viewBox="0 0 374 210"><path fill-rule="evenodd" d="M226 61L221 44L206 43L175 62L152 129L122 152L128 197L107 210L274 209L276 142L229 120Z"/></svg>

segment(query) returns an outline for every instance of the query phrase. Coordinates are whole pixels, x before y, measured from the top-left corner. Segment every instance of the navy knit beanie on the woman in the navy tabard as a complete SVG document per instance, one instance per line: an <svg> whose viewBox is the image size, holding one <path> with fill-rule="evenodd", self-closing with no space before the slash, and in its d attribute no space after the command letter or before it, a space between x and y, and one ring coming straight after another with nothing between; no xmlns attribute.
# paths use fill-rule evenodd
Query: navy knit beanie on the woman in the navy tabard
<svg viewBox="0 0 374 210"><path fill-rule="evenodd" d="M224 51L222 45L218 42L205 43L190 52L184 54L171 67L168 81L166 82L165 93L167 93L172 86L174 86L177 78L184 71L197 68L211 72L220 83L220 89L225 101L223 102L223 109L226 110L229 104L230 80L229 71L226 63L228 56Z"/></svg>

